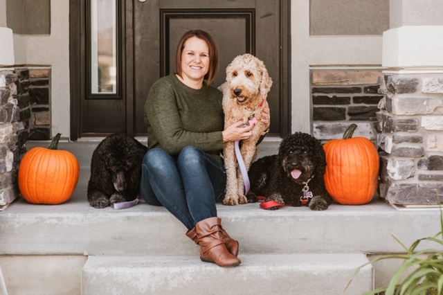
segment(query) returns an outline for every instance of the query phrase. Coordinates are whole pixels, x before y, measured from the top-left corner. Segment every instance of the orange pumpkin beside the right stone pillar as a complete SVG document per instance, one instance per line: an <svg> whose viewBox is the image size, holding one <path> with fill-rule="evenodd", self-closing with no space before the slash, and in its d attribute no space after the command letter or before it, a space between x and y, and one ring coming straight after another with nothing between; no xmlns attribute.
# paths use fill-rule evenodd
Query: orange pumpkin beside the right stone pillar
<svg viewBox="0 0 443 295"><path fill-rule="evenodd" d="M326 189L335 202L343 205L366 204L374 197L379 179L379 153L368 138L354 137L352 124L343 139L323 145L326 154Z"/></svg>

